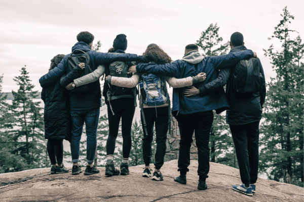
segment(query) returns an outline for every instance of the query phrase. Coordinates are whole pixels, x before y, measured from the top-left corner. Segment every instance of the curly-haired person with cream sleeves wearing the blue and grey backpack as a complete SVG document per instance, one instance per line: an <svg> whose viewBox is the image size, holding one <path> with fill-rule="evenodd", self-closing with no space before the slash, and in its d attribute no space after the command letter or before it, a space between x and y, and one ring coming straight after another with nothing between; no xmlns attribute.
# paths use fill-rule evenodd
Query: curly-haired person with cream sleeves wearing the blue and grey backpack
<svg viewBox="0 0 304 202"><path fill-rule="evenodd" d="M157 44L151 43L147 46L146 51L143 53L150 63L155 64L166 64L171 63L171 58L168 56L163 49ZM134 74L131 78L107 76L106 82L111 85L117 85L121 87L135 87L142 75ZM171 87L179 88L184 86L191 86L195 82L200 82L205 80L206 74L199 73L195 77L187 77L182 79L176 79L174 77L160 76L162 81L167 81ZM163 96L167 97L168 91L167 86L162 87ZM153 128L155 124L156 129L156 154L155 154L155 172L153 174L152 180L163 180L163 175L160 171L164 164L164 157L166 154L166 139L169 125L169 114L170 114L170 99L167 99L166 103L160 106L149 106L143 104L142 95L140 97L141 106L141 123L143 126L143 138L142 138L142 151L143 151L143 161L145 163L145 169L142 174L143 177L150 177L152 171L150 169L151 162L151 143L153 140ZM146 123L146 130L144 129L144 122Z"/></svg>

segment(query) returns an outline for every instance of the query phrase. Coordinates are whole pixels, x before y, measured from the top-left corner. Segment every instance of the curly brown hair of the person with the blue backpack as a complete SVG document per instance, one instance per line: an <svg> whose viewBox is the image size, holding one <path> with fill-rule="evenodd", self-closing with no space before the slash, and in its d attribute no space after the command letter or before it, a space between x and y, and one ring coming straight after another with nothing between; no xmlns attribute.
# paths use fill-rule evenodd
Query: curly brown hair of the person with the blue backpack
<svg viewBox="0 0 304 202"><path fill-rule="evenodd" d="M146 51L142 54L149 61L152 61L158 65L171 63L171 57L163 51L163 49L157 44L148 45Z"/></svg>

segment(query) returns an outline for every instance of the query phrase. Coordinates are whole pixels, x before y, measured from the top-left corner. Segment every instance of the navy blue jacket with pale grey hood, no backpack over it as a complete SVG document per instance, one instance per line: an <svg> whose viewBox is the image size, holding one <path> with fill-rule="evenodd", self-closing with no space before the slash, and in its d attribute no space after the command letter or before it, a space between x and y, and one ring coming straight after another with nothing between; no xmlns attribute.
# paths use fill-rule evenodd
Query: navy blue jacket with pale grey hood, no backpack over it
<svg viewBox="0 0 304 202"><path fill-rule="evenodd" d="M250 50L216 57L203 57L199 52L193 51L186 54L182 60L165 65L139 64L136 66L136 70L139 73L149 72L176 78L196 76L200 72L205 72L206 80L193 85L199 88L216 79L217 70L236 65L240 60L250 57L253 57L253 52ZM222 87L210 94L198 94L191 97L184 96L182 88L173 88L172 114L175 116L178 113L193 114L223 107L229 107L229 105Z"/></svg>

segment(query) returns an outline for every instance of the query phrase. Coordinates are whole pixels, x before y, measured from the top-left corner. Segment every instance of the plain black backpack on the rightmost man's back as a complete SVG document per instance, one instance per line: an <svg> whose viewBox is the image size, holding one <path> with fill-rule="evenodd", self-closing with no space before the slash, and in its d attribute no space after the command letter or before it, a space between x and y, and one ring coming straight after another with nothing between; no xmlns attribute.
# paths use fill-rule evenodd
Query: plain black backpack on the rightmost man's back
<svg viewBox="0 0 304 202"><path fill-rule="evenodd" d="M241 60L231 72L230 85L239 93L259 92L262 75L257 59Z"/></svg>

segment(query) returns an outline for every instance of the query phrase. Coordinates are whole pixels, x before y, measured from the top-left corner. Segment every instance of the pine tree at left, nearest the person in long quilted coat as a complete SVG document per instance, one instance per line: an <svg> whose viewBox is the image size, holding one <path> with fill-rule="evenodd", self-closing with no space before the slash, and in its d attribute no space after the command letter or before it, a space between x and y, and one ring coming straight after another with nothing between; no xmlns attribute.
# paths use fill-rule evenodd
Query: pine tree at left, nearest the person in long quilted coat
<svg viewBox="0 0 304 202"><path fill-rule="evenodd" d="M42 164L46 146L44 141L44 121L40 102L33 102L37 91L33 91L34 85L29 80L26 66L21 69L21 75L14 81L19 85L17 92L12 91L14 100L11 111L15 115L14 130L10 132L14 144L13 154L17 154L26 160L31 168L39 168Z"/></svg>

